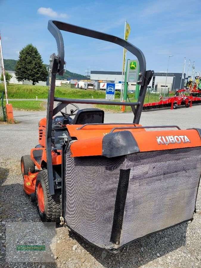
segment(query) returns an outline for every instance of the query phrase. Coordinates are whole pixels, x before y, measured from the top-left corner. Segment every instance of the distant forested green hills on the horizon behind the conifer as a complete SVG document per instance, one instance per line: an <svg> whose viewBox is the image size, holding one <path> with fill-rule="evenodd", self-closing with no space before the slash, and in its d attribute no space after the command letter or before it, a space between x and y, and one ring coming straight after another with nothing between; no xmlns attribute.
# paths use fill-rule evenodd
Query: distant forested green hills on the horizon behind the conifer
<svg viewBox="0 0 201 268"><path fill-rule="evenodd" d="M7 71L15 71L15 66L16 66L17 60L5 60L4 59L4 68ZM49 66L46 64L46 66ZM56 79L85 79L88 80L89 78L86 77L85 75L82 74L76 74L76 73L71 73L70 71L66 70L66 73L63 74L63 76L56 75Z"/></svg>

